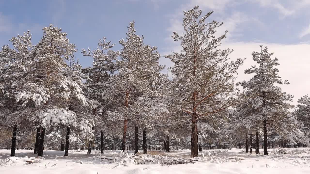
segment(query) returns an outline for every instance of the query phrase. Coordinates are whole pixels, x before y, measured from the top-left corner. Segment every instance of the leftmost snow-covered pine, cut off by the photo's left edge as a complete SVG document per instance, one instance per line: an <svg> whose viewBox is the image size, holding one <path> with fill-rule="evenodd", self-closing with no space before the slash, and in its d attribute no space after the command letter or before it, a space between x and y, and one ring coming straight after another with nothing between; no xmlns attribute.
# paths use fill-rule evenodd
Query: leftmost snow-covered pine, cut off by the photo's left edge
<svg viewBox="0 0 310 174"><path fill-rule="evenodd" d="M32 63L28 54L33 49L33 45L29 30L23 35L12 37L10 42L13 49L7 45L3 46L0 51L0 111L3 113L1 119L4 121L2 122L10 125L2 125L2 127L13 127L11 155L14 156L17 124L20 123L24 127L29 125L29 120L22 114L21 104L15 102L16 86L28 72L27 66Z"/></svg>

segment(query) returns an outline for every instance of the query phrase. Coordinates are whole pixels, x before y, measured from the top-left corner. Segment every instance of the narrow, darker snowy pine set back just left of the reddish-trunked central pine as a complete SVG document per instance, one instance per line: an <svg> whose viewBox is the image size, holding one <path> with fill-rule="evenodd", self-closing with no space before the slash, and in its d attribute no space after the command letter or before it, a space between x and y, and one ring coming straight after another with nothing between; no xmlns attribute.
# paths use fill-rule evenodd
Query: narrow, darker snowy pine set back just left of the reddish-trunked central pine
<svg viewBox="0 0 310 174"><path fill-rule="evenodd" d="M92 67L82 69L82 73L86 75L87 89L85 95L92 99L97 107L94 107L91 114L94 117L96 127L100 129L101 134L101 153L103 153L103 143L105 130L105 122L108 121L107 111L113 104L109 100L105 100L104 91L108 88L108 80L115 71L114 62L117 59L117 52L111 50L114 44L102 38L98 42L97 49L91 51L89 48L86 51L82 50L83 56L91 57L93 60ZM92 140L90 140L92 141ZM91 143L90 143L91 144ZM90 154L90 149L89 153Z"/></svg>

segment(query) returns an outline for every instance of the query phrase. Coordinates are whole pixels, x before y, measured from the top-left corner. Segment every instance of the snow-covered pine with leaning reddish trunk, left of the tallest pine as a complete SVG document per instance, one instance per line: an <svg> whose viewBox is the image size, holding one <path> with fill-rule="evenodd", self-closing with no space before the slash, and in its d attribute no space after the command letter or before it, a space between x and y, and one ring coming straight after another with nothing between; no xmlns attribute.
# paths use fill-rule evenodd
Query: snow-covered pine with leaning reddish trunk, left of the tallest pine
<svg viewBox="0 0 310 174"><path fill-rule="evenodd" d="M143 36L136 34L134 22L128 26L126 40L119 43L123 46L117 61L117 74L111 77L105 96L113 101L114 110L110 112L111 120L123 121L122 150L125 150L128 121L143 121L144 118L166 112L160 102L160 89L164 68L158 64L160 55L157 47L145 45Z"/></svg>

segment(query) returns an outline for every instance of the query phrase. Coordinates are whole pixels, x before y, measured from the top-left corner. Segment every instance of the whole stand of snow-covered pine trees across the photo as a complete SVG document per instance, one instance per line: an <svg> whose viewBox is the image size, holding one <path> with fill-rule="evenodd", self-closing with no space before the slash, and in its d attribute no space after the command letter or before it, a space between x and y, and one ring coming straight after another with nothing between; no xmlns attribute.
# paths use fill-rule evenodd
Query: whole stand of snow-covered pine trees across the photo
<svg viewBox="0 0 310 174"><path fill-rule="evenodd" d="M53 24L36 44L29 30L12 37L0 50L0 148L38 157L46 150L189 149L195 158L210 149L268 155L309 147L310 97L291 104L281 88L289 81L278 75L281 58L265 45L244 71L251 78L237 81L244 59L229 58L233 50L222 45L228 31L217 33L223 23L209 20L212 13L184 11L183 33L171 33L182 49L167 55L144 44L135 21L120 50L98 36L96 48L79 50L90 67L75 57L70 33ZM174 63L171 76L162 73L162 57Z"/></svg>

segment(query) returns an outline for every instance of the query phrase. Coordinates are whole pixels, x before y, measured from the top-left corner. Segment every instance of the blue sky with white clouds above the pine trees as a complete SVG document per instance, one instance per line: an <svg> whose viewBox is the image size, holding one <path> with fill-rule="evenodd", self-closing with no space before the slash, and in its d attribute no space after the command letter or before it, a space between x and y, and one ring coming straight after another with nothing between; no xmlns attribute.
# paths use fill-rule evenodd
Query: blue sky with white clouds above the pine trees
<svg viewBox="0 0 310 174"><path fill-rule="evenodd" d="M42 28L54 24L77 45L76 56L82 65L90 66L91 59L83 57L80 50L95 48L102 37L120 49L118 41L126 37L127 25L135 20L144 42L168 54L180 50L170 35L172 31L182 33L182 12L195 5L205 13L214 10L210 20L224 22L218 33L229 31L223 47L235 50L231 59L247 58L238 80L250 77L243 71L254 64L251 52L263 44L280 60L280 75L291 82L283 89L295 95L294 104L308 93L310 0L0 0L0 44L28 29L35 44ZM160 62L172 66L165 58Z"/></svg>

